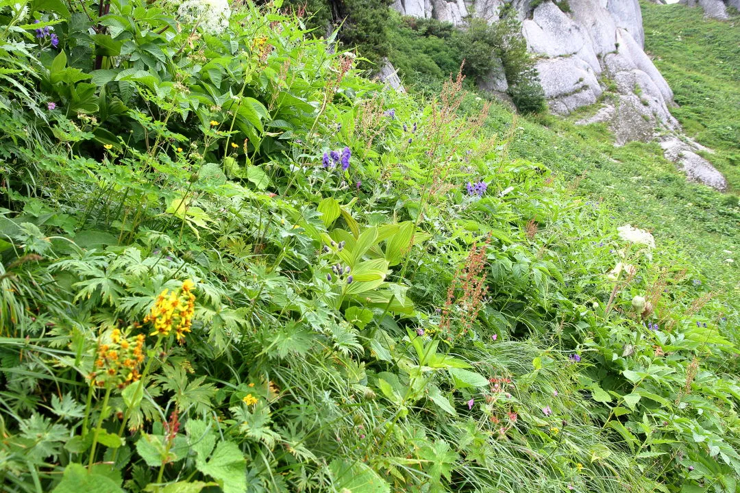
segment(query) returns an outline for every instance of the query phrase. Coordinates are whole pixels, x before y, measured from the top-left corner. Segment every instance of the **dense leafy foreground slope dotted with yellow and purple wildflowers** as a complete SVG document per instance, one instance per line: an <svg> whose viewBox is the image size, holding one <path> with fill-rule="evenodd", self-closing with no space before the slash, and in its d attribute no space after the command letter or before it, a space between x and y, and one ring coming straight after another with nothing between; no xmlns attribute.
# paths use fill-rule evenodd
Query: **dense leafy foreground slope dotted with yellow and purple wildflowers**
<svg viewBox="0 0 740 493"><path fill-rule="evenodd" d="M275 4L2 4L4 491L735 491L687 257Z"/></svg>

